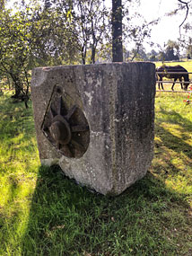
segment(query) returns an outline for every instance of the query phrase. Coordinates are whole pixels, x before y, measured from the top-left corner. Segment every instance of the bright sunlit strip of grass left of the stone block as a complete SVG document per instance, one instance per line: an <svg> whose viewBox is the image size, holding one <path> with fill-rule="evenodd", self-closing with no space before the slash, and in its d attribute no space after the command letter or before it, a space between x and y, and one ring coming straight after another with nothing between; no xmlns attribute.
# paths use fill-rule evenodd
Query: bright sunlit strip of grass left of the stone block
<svg viewBox="0 0 192 256"><path fill-rule="evenodd" d="M10 96L4 92L0 97L0 255L21 249L39 170L31 109Z"/></svg>

